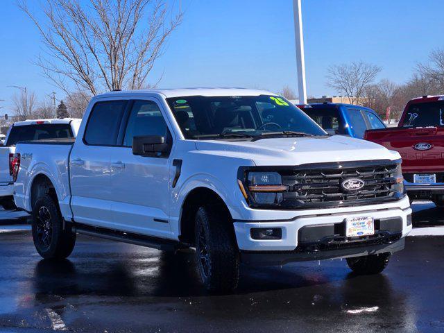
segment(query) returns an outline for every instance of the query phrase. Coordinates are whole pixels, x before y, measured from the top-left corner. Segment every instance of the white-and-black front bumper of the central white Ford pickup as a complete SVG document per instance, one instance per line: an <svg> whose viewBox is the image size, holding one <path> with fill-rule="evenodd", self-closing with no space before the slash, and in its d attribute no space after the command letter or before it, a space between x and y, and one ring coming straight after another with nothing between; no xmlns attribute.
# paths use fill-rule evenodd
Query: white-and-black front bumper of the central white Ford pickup
<svg viewBox="0 0 444 333"><path fill-rule="evenodd" d="M378 230L377 223L380 221L393 221L398 220L399 228L391 229L391 237L386 238L383 243L389 244L393 241L397 241L402 237L405 237L411 231L411 221L408 221L411 217L411 209L409 207L409 199L407 197L402 200L383 207L379 205L353 207L349 210L343 209L330 209L330 210L317 210L316 212L310 211L293 211L293 214L297 214L291 219L280 219L278 211L275 211L275 219L267 221L234 221L234 231L236 233L237 244L241 251L295 251L301 250L302 247L307 246L307 239L302 239L301 230L309 227L326 226L330 228L330 232L327 234L321 234L315 242L316 244L322 244L330 237L336 237L333 241L339 241L337 237L342 237L340 241L350 242L353 239L346 239L341 234L341 225L343 225L346 218L359 217L359 216L371 216L375 220L375 231L379 234L379 231L384 231L387 228L384 226L382 230ZM288 214L289 212L283 212L282 214ZM384 222L385 223L385 222ZM387 224L384 224L387 225ZM253 239L251 237L250 230L253 228L280 228L282 230L282 237L280 239ZM384 230L383 230L384 229ZM387 230L386 230L387 231ZM345 233L345 228L343 229ZM393 236L393 237L392 237ZM379 237L379 236L378 236ZM359 239L358 239L359 240ZM359 246L375 246L371 239L368 237L362 237L361 242L357 242L355 248L357 253L360 253ZM330 241L331 242L331 241ZM310 246L316 244L308 244ZM382 244L382 243L381 243ZM380 245L380 244L376 244ZM316 248L314 248L316 250ZM341 253L339 249L339 253ZM353 251L353 250L352 250ZM337 253L334 255L336 257ZM341 257L341 255L339 255Z"/></svg>

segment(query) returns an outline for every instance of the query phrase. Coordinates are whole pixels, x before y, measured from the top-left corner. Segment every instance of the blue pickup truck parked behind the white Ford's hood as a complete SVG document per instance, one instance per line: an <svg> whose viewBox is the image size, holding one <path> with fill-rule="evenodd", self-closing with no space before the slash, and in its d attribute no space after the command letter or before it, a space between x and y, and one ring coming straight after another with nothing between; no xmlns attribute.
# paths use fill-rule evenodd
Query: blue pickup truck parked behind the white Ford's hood
<svg viewBox="0 0 444 333"><path fill-rule="evenodd" d="M386 128L375 110L345 103L297 105L330 135L364 138L366 130Z"/></svg>

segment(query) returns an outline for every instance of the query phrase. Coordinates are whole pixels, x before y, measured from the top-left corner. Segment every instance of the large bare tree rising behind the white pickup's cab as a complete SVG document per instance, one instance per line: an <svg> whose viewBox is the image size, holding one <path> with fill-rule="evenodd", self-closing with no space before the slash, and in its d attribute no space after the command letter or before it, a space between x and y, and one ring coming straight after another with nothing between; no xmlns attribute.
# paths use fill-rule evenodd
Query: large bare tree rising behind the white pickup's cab
<svg viewBox="0 0 444 333"><path fill-rule="evenodd" d="M90 94L146 86L169 35L182 21L164 0L44 0L35 15L46 56L37 58L44 75L60 89Z"/></svg>

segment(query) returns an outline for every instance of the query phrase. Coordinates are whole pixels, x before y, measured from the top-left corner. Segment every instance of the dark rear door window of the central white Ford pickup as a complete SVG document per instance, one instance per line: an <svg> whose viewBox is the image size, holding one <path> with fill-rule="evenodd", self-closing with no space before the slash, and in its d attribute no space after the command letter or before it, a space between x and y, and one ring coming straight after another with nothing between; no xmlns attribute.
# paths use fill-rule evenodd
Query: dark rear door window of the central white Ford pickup
<svg viewBox="0 0 444 333"><path fill-rule="evenodd" d="M89 115L85 142L97 146L114 146L126 101L97 102Z"/></svg>

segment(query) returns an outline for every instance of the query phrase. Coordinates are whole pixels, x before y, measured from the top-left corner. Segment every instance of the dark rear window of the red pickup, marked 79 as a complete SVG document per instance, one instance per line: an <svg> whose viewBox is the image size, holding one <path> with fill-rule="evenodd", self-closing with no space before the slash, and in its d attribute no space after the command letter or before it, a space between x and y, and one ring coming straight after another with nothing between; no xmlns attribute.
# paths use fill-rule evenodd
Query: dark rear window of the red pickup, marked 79
<svg viewBox="0 0 444 333"><path fill-rule="evenodd" d="M444 101L411 104L402 127L444 126Z"/></svg>

